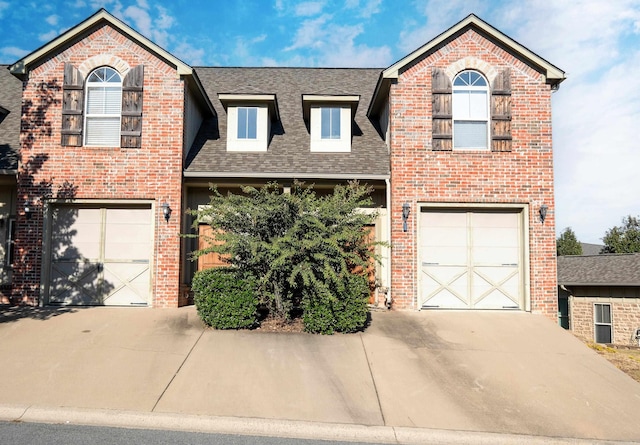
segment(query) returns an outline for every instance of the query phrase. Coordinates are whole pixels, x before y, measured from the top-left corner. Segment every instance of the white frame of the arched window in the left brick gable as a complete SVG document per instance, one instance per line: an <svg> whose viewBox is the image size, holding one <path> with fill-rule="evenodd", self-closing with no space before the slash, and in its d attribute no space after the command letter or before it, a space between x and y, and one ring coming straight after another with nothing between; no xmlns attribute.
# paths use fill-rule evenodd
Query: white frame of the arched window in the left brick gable
<svg viewBox="0 0 640 445"><path fill-rule="evenodd" d="M95 77L96 73L101 71L105 77L105 80L93 81L92 77ZM115 81L117 76L117 81ZM92 91L100 91L103 92L103 103L110 105L116 111L106 112L106 107L103 107L102 113L91 112L91 92ZM112 100L114 101L112 104L109 104L109 98L106 97L108 90L116 90L117 94L113 95ZM117 97L117 103L115 102L115 97ZM87 147L119 147L120 146L120 131L122 128L122 76L118 73L117 70L110 66L101 66L93 70L89 76L87 77L87 82L85 85L85 104L84 104L84 145ZM91 121L94 122L113 122L114 125L113 132L114 134L108 134L106 136L101 136L100 139L102 142L99 143L97 141L91 141L90 139L94 137L92 132L90 131L93 127ZM117 126L117 127L116 127ZM95 128L95 127L94 127ZM117 128L117 130L116 130ZM117 132L117 134L115 134Z"/></svg>

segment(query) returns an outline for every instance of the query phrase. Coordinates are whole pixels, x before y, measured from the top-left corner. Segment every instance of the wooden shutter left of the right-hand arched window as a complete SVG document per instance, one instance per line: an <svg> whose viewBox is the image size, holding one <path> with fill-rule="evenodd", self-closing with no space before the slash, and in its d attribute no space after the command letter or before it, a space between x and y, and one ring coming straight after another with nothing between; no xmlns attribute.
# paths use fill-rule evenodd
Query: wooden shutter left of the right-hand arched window
<svg viewBox="0 0 640 445"><path fill-rule="evenodd" d="M451 151L453 149L453 114L451 81L441 68L431 71L433 150Z"/></svg>

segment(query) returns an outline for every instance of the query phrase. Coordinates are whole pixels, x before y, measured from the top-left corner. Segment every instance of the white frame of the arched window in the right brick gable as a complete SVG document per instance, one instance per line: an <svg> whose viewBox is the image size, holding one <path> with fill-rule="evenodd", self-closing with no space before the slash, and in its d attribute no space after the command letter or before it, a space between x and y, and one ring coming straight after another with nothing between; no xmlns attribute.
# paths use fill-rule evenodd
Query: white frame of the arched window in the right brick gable
<svg viewBox="0 0 640 445"><path fill-rule="evenodd" d="M462 79L462 76L467 73L474 73L479 76L484 85L478 83L478 79L474 84L469 85L456 85L458 78ZM472 110L472 98L474 95L483 94L485 96L485 104L478 110ZM489 82L480 72L475 70L465 70L453 79L452 90L452 109L453 109L453 149L454 150L489 150L490 138L491 138L491 92L489 90ZM466 98L463 96L465 95ZM465 100L466 99L466 100ZM464 123L484 123L486 128L486 135L482 145L458 145L456 138L456 124Z"/></svg>

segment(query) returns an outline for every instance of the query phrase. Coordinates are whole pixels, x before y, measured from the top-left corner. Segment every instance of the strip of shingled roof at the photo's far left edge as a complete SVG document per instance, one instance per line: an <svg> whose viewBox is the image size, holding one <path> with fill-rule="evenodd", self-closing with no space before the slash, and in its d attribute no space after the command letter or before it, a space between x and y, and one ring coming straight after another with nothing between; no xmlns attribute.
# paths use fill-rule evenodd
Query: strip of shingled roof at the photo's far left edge
<svg viewBox="0 0 640 445"><path fill-rule="evenodd" d="M0 174L15 174L20 144L22 82L7 68L7 65L0 65Z"/></svg>

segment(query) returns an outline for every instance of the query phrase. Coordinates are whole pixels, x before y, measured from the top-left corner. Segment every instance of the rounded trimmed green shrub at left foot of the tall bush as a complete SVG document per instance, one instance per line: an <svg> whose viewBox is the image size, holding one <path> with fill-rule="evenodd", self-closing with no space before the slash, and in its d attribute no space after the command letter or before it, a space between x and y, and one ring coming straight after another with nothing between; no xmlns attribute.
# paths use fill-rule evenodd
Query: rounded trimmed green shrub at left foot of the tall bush
<svg viewBox="0 0 640 445"><path fill-rule="evenodd" d="M213 268L193 277L198 315L216 329L250 328L257 323L255 282L230 268Z"/></svg>

